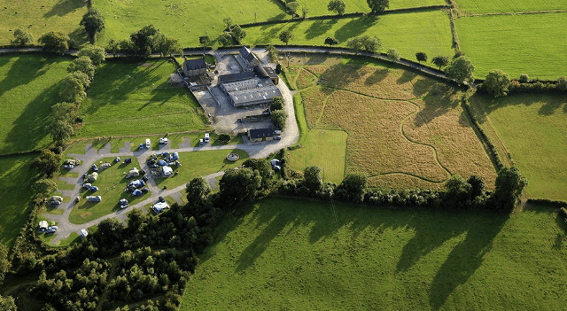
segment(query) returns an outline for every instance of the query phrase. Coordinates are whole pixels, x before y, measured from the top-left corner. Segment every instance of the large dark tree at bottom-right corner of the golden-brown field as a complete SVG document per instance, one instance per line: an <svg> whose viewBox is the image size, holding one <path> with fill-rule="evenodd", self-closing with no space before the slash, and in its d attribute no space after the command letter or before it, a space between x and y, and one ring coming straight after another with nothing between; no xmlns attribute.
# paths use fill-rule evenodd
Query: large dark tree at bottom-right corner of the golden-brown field
<svg viewBox="0 0 567 311"><path fill-rule="evenodd" d="M519 202L528 181L517 167L502 167L496 176L495 185L491 197L494 207L511 211Z"/></svg>

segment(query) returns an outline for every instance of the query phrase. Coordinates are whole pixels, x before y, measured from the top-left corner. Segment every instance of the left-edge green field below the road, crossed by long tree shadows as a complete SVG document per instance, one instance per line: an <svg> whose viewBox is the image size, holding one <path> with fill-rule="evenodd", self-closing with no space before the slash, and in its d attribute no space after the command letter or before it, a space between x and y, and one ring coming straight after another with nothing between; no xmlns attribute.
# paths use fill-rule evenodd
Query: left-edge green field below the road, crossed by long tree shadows
<svg viewBox="0 0 567 311"><path fill-rule="evenodd" d="M69 58L0 56L0 153L23 152L50 144L45 133L58 82Z"/></svg>

